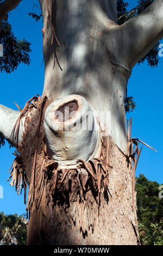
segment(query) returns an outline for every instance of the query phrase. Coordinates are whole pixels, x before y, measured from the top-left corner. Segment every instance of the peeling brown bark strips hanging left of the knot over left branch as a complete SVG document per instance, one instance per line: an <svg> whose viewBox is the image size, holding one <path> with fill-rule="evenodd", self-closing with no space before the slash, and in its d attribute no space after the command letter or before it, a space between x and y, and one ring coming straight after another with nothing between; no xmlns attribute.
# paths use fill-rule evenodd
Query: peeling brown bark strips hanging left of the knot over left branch
<svg viewBox="0 0 163 256"><path fill-rule="evenodd" d="M22 119L25 118L24 121L24 132L23 132L23 141L21 144L17 143L17 150L15 151L14 155L16 155L16 159L12 164L13 168L11 171L10 178L11 186L15 185L15 189L17 190L17 180L19 178L19 173L24 174L24 170L26 170L25 175L21 175L21 185L22 182L26 184L24 187L24 203L26 204L26 188L27 188L27 180L28 184L30 185L32 172L31 170L35 169L35 160L36 160L36 149L37 149L37 140L39 137L40 131L40 119L39 117L42 115L42 105L44 102L48 100L46 97L43 99L40 96L34 96L32 99L28 100L24 108L20 109L20 115L16 120L14 128L12 130L12 134L15 138L18 139L18 131L20 129L20 125L22 124ZM31 102L31 103L30 103ZM14 133L16 129L16 133ZM37 135L37 136L36 136ZM11 166L11 167L12 167ZM11 169L11 168L10 168ZM17 178L16 178L17 177ZM20 190L20 188L19 188ZM18 190L18 191L19 191Z"/></svg>

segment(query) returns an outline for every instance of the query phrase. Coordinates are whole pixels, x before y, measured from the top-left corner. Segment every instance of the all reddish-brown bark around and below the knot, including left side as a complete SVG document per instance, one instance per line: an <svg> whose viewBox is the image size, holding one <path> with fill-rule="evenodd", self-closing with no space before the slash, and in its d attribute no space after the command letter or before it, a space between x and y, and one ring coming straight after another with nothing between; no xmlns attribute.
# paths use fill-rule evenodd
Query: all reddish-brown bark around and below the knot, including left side
<svg viewBox="0 0 163 256"><path fill-rule="evenodd" d="M39 97L27 107L23 115L30 111L31 118L26 119L23 147L18 147L18 163L29 183L27 244L136 245L130 158L111 137L103 137L97 159L77 169L59 169L46 152L43 118L48 104Z"/></svg>

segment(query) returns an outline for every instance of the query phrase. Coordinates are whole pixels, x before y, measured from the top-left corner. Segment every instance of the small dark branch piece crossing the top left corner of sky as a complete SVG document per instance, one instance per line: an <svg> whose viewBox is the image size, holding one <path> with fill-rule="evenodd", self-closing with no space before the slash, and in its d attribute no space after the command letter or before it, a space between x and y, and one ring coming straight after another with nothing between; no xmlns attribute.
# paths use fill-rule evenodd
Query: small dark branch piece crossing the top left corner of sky
<svg viewBox="0 0 163 256"><path fill-rule="evenodd" d="M4 2L0 4L0 19L3 19L9 11L14 10L21 1L22 0L4 0Z"/></svg>

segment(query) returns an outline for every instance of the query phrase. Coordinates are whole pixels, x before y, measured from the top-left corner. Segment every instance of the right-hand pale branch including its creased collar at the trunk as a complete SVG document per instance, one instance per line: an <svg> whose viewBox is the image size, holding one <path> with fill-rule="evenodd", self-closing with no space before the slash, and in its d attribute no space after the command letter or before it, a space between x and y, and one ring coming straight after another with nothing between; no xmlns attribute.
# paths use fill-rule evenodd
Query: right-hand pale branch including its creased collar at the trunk
<svg viewBox="0 0 163 256"><path fill-rule="evenodd" d="M109 24L104 29L109 58L130 71L163 37L163 1L155 0L121 26Z"/></svg>

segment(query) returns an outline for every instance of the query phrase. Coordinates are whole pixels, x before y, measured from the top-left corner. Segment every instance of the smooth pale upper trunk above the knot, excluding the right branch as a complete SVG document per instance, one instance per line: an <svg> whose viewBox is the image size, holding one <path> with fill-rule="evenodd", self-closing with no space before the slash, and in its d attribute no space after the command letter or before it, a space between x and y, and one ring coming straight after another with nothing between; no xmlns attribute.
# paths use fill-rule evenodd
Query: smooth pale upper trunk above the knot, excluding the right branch
<svg viewBox="0 0 163 256"><path fill-rule="evenodd" d="M117 62L110 62L106 47L105 31L115 27L115 1L55 1L52 42L51 17L47 21L48 8L41 2L45 33L45 87L43 92L53 99L79 94L95 107L101 118L101 129L126 150L126 114L124 95L130 70ZM110 8L111 7L111 8ZM51 5L49 2L51 13ZM55 10L57 11L55 15ZM110 38L114 40L114 38ZM111 115L111 118L110 118Z"/></svg>

